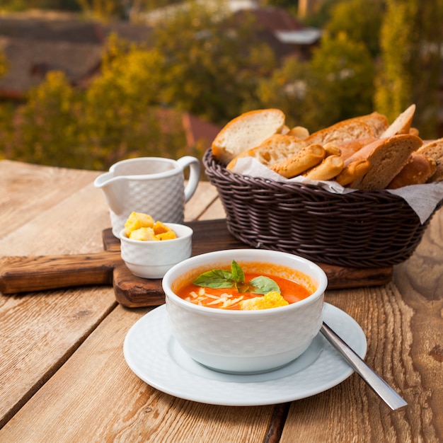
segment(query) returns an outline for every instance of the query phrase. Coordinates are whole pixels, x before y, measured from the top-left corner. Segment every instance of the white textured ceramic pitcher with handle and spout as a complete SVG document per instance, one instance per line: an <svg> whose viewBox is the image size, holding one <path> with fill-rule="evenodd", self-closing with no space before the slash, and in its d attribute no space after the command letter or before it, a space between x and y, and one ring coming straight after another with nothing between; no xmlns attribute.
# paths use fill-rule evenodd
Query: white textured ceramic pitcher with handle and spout
<svg viewBox="0 0 443 443"><path fill-rule="evenodd" d="M188 167L185 186L183 171ZM185 202L194 195L199 179L200 162L195 157L139 157L115 163L94 185L105 194L113 234L118 237L133 211L161 222L183 223Z"/></svg>

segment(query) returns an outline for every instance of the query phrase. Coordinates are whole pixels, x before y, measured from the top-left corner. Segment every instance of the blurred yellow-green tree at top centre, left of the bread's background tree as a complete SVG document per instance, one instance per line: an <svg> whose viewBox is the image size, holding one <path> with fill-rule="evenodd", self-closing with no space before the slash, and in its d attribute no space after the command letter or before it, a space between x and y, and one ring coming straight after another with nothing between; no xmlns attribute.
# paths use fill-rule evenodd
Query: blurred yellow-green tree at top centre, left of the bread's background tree
<svg viewBox="0 0 443 443"><path fill-rule="evenodd" d="M151 71L161 79L159 103L219 124L238 115L255 95L258 79L275 68L275 56L253 30L253 16L220 22L216 10L195 2L166 17L150 41L163 63Z"/></svg>

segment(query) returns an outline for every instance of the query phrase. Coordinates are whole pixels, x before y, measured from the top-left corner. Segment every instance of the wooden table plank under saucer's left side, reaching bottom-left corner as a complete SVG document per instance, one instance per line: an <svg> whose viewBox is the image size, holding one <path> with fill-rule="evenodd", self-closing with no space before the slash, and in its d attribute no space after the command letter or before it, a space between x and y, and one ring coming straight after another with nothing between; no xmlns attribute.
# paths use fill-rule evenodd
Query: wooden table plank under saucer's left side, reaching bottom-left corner
<svg viewBox="0 0 443 443"><path fill-rule="evenodd" d="M122 343L145 312L118 306L110 313L0 430L0 441L264 442L275 406L226 408L185 401L132 373Z"/></svg>

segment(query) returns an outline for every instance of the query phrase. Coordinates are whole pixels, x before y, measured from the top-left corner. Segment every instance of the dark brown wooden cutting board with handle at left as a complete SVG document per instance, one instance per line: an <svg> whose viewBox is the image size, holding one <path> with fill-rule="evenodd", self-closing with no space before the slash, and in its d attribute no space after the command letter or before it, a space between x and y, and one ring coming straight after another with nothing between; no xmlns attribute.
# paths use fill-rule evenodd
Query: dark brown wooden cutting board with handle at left
<svg viewBox="0 0 443 443"><path fill-rule="evenodd" d="M192 255L222 249L249 248L226 228L226 220L187 223L194 230ZM0 292L45 291L90 284L112 284L115 299L135 308L164 303L161 279L136 277L120 257L120 240L111 229L103 231L104 251L93 254L4 257L0 259ZM392 267L358 269L318 263L328 276L328 289L376 286L389 283Z"/></svg>

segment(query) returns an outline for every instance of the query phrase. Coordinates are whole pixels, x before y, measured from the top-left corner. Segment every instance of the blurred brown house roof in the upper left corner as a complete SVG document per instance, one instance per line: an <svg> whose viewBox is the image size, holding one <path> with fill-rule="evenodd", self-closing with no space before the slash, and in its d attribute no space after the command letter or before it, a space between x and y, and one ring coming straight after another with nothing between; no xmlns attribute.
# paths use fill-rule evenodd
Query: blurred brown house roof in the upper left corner
<svg viewBox="0 0 443 443"><path fill-rule="evenodd" d="M98 74L110 34L144 42L150 31L146 25L81 21L72 14L0 14L0 51L9 65L0 77L0 96L22 98L54 70L82 85Z"/></svg>

